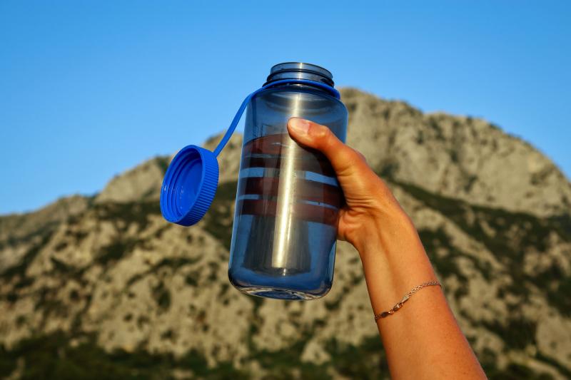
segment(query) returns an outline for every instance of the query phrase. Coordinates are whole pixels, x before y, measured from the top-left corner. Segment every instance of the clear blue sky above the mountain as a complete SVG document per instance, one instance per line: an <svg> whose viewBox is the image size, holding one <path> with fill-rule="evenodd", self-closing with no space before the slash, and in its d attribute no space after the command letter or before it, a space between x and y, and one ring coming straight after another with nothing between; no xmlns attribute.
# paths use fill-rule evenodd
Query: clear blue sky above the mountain
<svg viewBox="0 0 571 380"><path fill-rule="evenodd" d="M0 1L0 214L202 143L284 61L485 118L569 178L570 4Z"/></svg>

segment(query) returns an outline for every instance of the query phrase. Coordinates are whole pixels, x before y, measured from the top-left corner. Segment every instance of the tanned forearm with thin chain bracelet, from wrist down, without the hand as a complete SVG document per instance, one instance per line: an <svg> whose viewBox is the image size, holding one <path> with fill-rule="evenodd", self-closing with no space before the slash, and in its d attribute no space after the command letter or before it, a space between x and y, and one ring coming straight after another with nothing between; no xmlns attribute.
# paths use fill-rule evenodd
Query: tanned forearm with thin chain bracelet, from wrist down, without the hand
<svg viewBox="0 0 571 380"><path fill-rule="evenodd" d="M400 207L370 226L359 250L375 313L392 308L413 287L436 279L418 233ZM394 379L482 379L485 375L440 287L420 289L378 319Z"/></svg>

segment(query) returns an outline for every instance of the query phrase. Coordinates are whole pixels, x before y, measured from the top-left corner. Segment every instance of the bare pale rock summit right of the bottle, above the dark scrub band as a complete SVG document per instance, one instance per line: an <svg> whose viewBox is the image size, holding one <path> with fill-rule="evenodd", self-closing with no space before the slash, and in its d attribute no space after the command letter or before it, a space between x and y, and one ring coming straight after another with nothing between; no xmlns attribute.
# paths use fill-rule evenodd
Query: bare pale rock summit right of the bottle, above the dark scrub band
<svg viewBox="0 0 571 380"><path fill-rule="evenodd" d="M531 145L485 120L423 114L402 102L343 91L348 143L381 173L475 205L538 216L571 210L571 185Z"/></svg>

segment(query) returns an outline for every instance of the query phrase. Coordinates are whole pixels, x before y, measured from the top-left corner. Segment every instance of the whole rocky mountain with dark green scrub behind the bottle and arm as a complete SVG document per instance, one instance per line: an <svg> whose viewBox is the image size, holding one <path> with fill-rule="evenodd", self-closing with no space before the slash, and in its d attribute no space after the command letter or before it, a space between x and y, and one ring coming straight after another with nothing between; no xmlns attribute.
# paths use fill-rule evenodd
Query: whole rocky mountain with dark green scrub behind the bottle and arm
<svg viewBox="0 0 571 380"><path fill-rule="evenodd" d="M348 143L413 218L490 378L571 377L571 185L484 120L355 89ZM216 146L218 138L206 142ZM0 217L0 376L388 377L357 252L311 302L245 296L226 274L241 136L195 227L161 217L168 158L94 199Z"/></svg>

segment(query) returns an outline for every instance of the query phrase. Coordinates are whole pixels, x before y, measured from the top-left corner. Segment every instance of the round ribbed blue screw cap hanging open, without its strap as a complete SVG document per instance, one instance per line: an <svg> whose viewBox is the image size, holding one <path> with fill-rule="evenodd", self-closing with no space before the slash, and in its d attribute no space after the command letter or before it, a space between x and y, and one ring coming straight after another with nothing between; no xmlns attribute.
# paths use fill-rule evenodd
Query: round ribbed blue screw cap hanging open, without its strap
<svg viewBox="0 0 571 380"><path fill-rule="evenodd" d="M218 186L218 160L196 145L182 148L168 165L161 188L161 212L168 222L190 226L202 219Z"/></svg>

